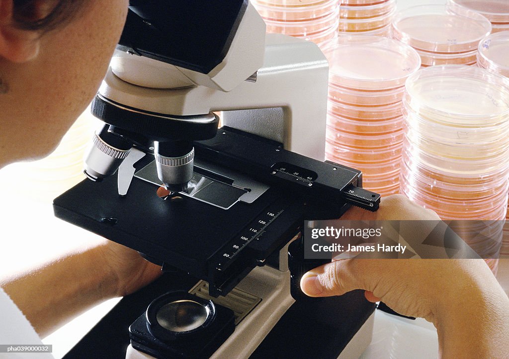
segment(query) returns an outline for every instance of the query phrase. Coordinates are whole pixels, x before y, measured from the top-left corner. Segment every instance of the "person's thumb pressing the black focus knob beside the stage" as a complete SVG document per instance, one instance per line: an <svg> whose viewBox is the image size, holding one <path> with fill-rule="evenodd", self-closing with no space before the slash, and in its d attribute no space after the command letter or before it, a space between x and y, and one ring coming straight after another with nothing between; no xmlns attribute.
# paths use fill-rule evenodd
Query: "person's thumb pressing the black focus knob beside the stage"
<svg viewBox="0 0 509 359"><path fill-rule="evenodd" d="M309 297L341 296L350 290L367 289L358 283L359 276L353 275L355 273L353 266L355 262L352 259L327 263L304 274L300 280L300 287Z"/></svg>

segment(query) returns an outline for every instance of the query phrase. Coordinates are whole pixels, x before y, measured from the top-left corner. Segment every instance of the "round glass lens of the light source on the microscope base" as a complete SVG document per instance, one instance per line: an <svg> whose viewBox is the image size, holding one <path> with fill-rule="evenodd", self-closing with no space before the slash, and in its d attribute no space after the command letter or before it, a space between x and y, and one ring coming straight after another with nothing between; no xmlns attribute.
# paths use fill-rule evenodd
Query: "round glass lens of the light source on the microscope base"
<svg viewBox="0 0 509 359"><path fill-rule="evenodd" d="M210 314L209 308L200 303L181 300L162 306L157 312L157 322L172 332L189 332L200 328Z"/></svg>

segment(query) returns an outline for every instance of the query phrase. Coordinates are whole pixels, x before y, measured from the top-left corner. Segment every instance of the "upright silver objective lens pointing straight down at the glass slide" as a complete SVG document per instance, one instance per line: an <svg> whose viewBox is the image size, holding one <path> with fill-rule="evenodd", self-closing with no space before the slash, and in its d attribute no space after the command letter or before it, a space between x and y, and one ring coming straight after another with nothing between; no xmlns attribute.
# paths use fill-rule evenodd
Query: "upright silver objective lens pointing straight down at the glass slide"
<svg viewBox="0 0 509 359"><path fill-rule="evenodd" d="M155 153L157 177L166 189L180 192L187 189L193 175L194 148L183 156L166 157Z"/></svg>

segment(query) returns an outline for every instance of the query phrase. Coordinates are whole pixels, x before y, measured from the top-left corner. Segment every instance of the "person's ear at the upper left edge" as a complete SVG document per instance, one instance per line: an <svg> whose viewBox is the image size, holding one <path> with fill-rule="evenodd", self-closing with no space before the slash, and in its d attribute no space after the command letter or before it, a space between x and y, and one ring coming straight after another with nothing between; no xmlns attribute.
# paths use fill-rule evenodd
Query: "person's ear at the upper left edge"
<svg viewBox="0 0 509 359"><path fill-rule="evenodd" d="M39 53L39 34L14 25L13 0L0 0L0 57L26 62Z"/></svg>

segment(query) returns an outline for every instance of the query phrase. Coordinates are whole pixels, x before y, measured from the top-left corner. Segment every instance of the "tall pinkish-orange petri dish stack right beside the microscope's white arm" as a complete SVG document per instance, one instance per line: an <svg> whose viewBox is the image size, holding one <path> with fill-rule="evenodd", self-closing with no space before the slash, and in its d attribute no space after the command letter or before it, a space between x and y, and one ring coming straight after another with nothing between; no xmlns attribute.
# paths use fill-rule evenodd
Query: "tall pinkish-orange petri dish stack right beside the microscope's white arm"
<svg viewBox="0 0 509 359"><path fill-rule="evenodd" d="M398 193L401 99L419 55L399 41L360 35L341 36L324 53L330 66L326 158L361 170L365 188Z"/></svg>

